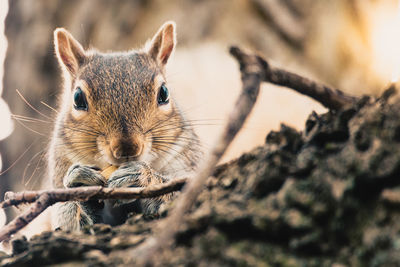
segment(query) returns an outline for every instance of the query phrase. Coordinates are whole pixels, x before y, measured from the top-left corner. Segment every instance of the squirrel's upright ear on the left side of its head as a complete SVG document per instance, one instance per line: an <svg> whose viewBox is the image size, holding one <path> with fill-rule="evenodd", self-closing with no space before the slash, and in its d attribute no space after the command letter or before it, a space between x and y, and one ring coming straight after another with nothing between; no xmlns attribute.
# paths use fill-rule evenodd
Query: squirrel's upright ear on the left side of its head
<svg viewBox="0 0 400 267"><path fill-rule="evenodd" d="M54 31L54 46L58 61L72 76L76 76L79 66L85 61L82 45L65 29Z"/></svg>

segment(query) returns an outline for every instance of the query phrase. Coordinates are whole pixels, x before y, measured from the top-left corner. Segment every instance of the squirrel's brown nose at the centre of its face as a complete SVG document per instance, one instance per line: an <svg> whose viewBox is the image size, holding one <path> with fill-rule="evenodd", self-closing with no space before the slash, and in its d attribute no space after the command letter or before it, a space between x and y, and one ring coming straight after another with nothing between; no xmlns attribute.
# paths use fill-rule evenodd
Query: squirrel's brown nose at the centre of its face
<svg viewBox="0 0 400 267"><path fill-rule="evenodd" d="M143 146L143 141L138 137L110 140L110 150L115 159L138 157L142 154Z"/></svg>

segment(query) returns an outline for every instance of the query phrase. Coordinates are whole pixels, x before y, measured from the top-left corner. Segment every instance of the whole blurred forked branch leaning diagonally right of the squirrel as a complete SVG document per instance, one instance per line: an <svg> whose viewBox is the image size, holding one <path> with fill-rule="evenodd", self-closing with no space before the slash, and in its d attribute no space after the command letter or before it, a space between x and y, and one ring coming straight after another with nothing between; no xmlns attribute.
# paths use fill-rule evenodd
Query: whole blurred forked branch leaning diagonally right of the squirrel
<svg viewBox="0 0 400 267"><path fill-rule="evenodd" d="M243 126L257 100L261 82L286 86L299 93L311 96L324 106L331 109L341 109L356 101L356 98L347 96L339 90L334 90L285 70L271 68L266 60L243 52L238 47L231 47L230 53L240 65L242 76L242 92L231 111L224 132L218 139L205 164L197 175L188 181L182 195L177 199L175 208L171 211L160 231L154 237L148 238L142 245L133 249L131 262L139 265L151 266L160 264L154 255L169 247L179 227L184 222L184 215L190 210L200 194L206 179L212 175L216 164Z"/></svg>

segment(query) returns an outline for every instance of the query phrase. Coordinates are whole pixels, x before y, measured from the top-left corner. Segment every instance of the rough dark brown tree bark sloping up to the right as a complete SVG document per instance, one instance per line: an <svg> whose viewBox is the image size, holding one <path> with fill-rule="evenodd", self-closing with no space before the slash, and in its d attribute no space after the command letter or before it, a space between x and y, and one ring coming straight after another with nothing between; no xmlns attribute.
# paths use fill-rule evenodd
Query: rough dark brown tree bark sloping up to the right
<svg viewBox="0 0 400 267"><path fill-rule="evenodd" d="M220 166L175 247L154 257L163 266L398 266L399 175L399 97L311 114L303 132L282 125ZM123 265L160 220L17 239L0 263Z"/></svg>

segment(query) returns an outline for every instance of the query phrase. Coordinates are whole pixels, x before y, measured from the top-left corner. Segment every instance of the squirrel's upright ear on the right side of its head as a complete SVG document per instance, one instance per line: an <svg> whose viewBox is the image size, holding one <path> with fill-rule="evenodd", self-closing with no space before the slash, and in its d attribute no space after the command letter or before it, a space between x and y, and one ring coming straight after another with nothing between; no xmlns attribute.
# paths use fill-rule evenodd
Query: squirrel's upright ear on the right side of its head
<svg viewBox="0 0 400 267"><path fill-rule="evenodd" d="M175 22L167 21L147 44L147 52L158 64L164 66L175 48Z"/></svg>

